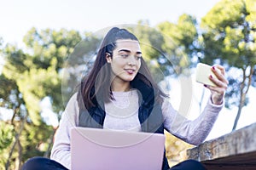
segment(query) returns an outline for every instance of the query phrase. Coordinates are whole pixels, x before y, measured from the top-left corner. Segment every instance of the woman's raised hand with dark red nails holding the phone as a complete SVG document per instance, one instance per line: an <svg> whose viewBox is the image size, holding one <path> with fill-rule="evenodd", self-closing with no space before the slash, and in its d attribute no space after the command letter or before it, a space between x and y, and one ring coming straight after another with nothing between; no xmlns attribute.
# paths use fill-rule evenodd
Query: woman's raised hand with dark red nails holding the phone
<svg viewBox="0 0 256 170"><path fill-rule="evenodd" d="M228 88L228 80L225 77L225 69L221 65L213 65L212 72L216 75L215 77L209 76L210 80L214 82L217 86L208 86L205 85L206 88L211 90L212 96L212 103L214 105L221 105L223 103L224 94L226 89Z"/></svg>

